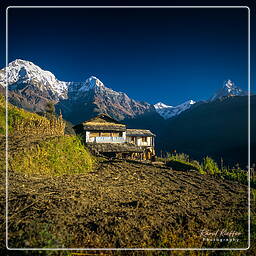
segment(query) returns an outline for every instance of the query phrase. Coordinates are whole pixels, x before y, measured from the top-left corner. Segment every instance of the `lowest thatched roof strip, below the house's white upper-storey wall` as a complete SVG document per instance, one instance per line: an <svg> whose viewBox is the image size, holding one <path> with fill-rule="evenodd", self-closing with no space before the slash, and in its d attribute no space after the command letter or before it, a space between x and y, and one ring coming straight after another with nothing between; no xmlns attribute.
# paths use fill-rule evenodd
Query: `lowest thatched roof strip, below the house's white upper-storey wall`
<svg viewBox="0 0 256 256"><path fill-rule="evenodd" d="M143 149L130 143L87 143L89 149L100 153L141 153Z"/></svg>

